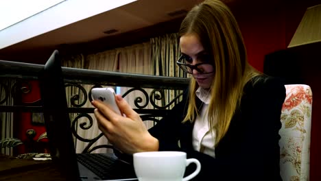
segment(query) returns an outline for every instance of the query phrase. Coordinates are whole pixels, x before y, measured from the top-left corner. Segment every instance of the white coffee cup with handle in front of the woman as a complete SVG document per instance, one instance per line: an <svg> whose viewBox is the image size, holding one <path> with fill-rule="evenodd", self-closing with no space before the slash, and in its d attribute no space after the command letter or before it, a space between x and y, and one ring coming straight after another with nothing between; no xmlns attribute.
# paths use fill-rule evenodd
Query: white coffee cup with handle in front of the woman
<svg viewBox="0 0 321 181"><path fill-rule="evenodd" d="M134 156L134 170L139 181L187 181L200 173L200 161L187 159L185 152L139 152ZM183 178L185 169L190 163L196 169Z"/></svg>

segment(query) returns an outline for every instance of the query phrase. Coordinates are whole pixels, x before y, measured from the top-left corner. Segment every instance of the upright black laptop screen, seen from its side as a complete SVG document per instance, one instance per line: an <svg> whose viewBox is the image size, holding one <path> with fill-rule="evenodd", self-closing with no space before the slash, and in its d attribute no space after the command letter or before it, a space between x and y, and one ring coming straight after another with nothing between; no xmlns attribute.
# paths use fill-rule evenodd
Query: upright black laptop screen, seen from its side
<svg viewBox="0 0 321 181"><path fill-rule="evenodd" d="M61 168L68 180L79 180L71 121L67 112L66 91L62 78L61 59L53 51L39 77L49 151L53 162Z"/></svg>

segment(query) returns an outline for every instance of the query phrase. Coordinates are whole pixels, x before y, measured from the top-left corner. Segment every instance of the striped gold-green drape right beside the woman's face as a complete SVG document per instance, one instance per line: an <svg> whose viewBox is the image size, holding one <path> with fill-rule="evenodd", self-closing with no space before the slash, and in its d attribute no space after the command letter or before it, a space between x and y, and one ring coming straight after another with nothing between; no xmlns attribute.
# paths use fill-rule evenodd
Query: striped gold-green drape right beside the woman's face
<svg viewBox="0 0 321 181"><path fill-rule="evenodd" d="M176 60L180 56L179 36L175 34L165 34L156 38L151 38L152 45L152 62L154 64L154 75L169 77L187 77L177 65ZM165 99L156 101L157 104L165 106L174 97L178 96L181 90L165 90ZM168 108L173 108L174 104Z"/></svg>

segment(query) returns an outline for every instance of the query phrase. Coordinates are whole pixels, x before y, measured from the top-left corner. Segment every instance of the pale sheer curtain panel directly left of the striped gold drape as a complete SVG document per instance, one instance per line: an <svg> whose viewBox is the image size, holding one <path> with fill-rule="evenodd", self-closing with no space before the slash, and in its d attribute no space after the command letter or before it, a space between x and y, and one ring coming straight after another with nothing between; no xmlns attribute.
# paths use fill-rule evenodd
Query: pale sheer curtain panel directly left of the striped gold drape
<svg viewBox="0 0 321 181"><path fill-rule="evenodd" d="M154 65L152 64L151 48L152 47L148 42L119 49L121 51L119 55L119 72L154 75ZM123 95L128 90L130 90L130 88L121 87L120 90L121 95ZM152 89L150 88L145 88L144 90L148 95L150 95L152 91ZM134 105L134 99L136 99L136 97L141 97L143 99L143 102L139 104L140 106L143 106L143 104L148 101L148 97L146 99L145 95L141 91L135 90L125 97L126 101L128 101L132 108L137 108ZM152 108L152 106L149 104L145 108ZM147 128L151 128L154 125L152 121L145 121L144 123Z"/></svg>

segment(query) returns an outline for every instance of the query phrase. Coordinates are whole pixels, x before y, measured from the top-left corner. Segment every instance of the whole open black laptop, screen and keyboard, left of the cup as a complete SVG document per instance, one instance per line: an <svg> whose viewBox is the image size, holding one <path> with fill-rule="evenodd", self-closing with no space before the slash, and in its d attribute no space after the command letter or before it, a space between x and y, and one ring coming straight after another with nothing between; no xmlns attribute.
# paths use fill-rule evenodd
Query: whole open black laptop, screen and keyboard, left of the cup
<svg viewBox="0 0 321 181"><path fill-rule="evenodd" d="M67 111L61 59L53 51L38 77L49 151L67 180L137 180L130 162L115 154L76 154Z"/></svg>

